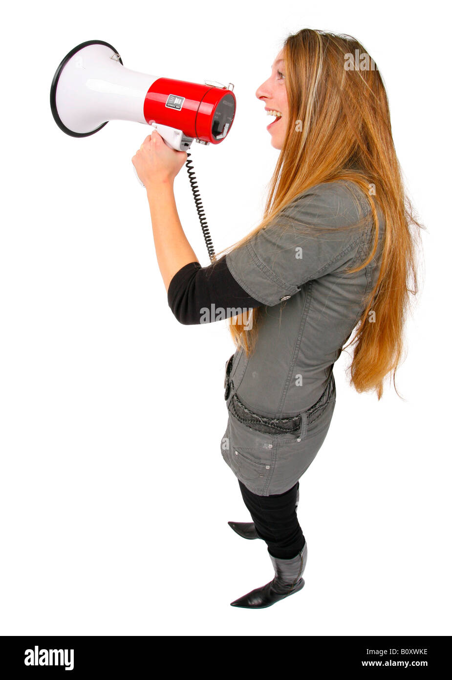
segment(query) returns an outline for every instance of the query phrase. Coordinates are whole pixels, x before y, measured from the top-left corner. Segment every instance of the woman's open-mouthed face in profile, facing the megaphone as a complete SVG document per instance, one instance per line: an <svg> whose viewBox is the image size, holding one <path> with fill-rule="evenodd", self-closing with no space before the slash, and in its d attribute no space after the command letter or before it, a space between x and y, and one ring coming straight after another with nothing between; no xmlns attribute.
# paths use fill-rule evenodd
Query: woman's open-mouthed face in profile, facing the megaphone
<svg viewBox="0 0 452 680"><path fill-rule="evenodd" d="M281 118L268 116L269 120L275 121L267 126L267 130L271 134L271 146L275 149L283 148L285 131L288 124L289 105L284 77L285 63L283 61L283 50L281 50L271 67L270 78L256 90L256 97L264 101L266 109L282 114Z"/></svg>

